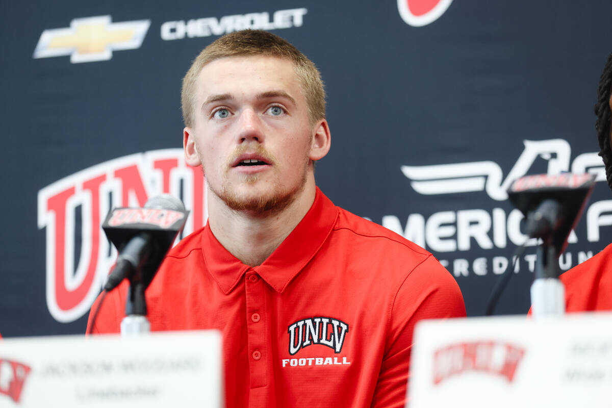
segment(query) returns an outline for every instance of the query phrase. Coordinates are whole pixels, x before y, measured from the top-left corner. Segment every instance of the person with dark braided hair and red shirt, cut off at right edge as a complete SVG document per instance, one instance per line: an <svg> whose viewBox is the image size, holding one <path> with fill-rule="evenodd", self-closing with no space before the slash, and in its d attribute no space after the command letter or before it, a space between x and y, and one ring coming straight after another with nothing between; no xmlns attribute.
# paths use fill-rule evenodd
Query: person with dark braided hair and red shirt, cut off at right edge
<svg viewBox="0 0 612 408"><path fill-rule="evenodd" d="M612 188L612 54L603 69L595 104L595 130L599 140L599 155L606 169L606 179ZM599 254L561 275L565 284L566 310L612 310L612 244Z"/></svg>

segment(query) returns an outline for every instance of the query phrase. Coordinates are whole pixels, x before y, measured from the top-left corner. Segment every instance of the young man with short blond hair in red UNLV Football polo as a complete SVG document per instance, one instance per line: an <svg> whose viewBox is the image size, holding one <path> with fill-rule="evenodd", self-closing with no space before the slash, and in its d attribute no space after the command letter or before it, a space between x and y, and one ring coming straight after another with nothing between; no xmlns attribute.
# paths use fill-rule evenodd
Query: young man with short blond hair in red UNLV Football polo
<svg viewBox="0 0 612 408"><path fill-rule="evenodd" d="M223 333L228 407L403 407L414 325L465 316L463 298L431 254L316 187L330 132L315 65L276 35L228 34L193 62L182 107L209 218L147 289L152 330ZM119 331L124 293L94 333Z"/></svg>

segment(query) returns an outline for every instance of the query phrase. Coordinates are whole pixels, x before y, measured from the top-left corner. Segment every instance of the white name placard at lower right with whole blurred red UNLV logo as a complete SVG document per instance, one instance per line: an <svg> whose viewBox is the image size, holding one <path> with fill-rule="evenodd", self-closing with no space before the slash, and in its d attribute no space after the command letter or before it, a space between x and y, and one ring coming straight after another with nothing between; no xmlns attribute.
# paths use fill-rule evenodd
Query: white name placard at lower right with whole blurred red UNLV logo
<svg viewBox="0 0 612 408"><path fill-rule="evenodd" d="M612 313L417 324L410 408L612 407Z"/></svg>

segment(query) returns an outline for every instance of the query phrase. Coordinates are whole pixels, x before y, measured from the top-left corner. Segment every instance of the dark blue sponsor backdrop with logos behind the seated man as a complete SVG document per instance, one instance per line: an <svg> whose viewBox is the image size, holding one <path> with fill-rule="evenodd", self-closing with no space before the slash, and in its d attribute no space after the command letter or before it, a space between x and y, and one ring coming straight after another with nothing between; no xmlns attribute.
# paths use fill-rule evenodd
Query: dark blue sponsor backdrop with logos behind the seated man
<svg viewBox="0 0 612 408"><path fill-rule="evenodd" d="M169 190L200 206L188 229L201 223L201 180L169 150L181 147L181 78L215 33L244 26L273 29L323 74L332 150L319 187L425 245L457 278L468 314L482 314L521 239L501 187L526 172L600 174L592 106L612 2L455 0L422 26L403 20L401 2L362 3L2 2L0 333L84 332L113 259L91 227L108 207ZM113 44L129 49L102 59ZM457 163L472 165L420 167ZM598 182L564 269L612 240L611 197ZM499 313L528 310L532 253Z"/></svg>

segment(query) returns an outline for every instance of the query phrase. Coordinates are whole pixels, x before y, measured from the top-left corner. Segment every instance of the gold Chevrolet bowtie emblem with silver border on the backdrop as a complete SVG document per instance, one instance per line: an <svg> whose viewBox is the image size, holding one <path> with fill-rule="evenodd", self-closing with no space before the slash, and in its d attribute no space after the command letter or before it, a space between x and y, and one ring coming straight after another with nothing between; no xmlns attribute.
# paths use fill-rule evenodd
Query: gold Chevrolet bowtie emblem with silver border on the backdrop
<svg viewBox="0 0 612 408"><path fill-rule="evenodd" d="M70 28L45 30L34 58L70 55L70 62L105 61L113 51L134 50L143 43L151 20L111 23L110 15L75 18Z"/></svg>

